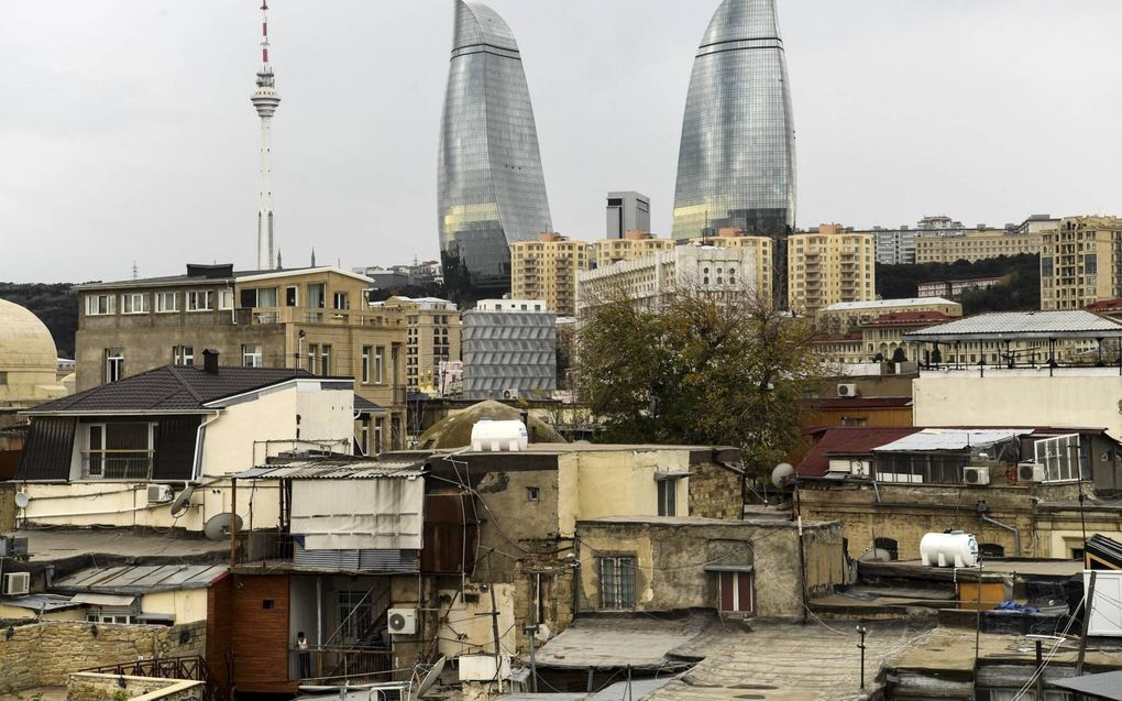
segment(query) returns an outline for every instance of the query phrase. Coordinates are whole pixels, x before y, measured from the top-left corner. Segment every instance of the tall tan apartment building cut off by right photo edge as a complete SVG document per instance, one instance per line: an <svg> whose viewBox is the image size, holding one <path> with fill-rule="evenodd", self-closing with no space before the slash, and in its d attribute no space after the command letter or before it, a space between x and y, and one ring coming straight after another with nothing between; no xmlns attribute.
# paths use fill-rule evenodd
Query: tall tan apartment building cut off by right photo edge
<svg viewBox="0 0 1122 701"><path fill-rule="evenodd" d="M1122 219L1068 216L1039 236L1041 310L1122 297Z"/></svg>

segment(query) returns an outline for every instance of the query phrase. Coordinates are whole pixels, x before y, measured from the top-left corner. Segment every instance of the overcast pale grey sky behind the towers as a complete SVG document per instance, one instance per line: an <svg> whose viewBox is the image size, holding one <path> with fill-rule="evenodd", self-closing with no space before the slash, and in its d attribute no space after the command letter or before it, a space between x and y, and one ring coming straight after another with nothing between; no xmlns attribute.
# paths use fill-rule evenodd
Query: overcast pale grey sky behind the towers
<svg viewBox="0 0 1122 701"><path fill-rule="evenodd" d="M553 225L609 190L669 236L718 0L493 0L522 47ZM258 0L4 0L0 280L256 260ZM1119 0L780 0L800 227L1122 213ZM438 256L451 0L273 0L286 266Z"/></svg>

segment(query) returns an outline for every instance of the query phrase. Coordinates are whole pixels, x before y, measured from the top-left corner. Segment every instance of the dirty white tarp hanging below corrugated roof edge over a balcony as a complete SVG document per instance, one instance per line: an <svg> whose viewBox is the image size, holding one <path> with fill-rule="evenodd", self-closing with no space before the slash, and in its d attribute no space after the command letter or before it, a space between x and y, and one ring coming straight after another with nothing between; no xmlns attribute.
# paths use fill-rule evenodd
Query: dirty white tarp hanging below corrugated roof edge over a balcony
<svg viewBox="0 0 1122 701"><path fill-rule="evenodd" d="M305 550L421 550L421 478L293 480L292 533Z"/></svg>

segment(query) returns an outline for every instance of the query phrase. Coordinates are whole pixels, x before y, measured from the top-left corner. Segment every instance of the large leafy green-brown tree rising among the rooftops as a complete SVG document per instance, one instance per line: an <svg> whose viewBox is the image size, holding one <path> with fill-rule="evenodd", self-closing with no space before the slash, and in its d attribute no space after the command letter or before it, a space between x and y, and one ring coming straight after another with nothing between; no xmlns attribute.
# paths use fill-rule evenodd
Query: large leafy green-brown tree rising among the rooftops
<svg viewBox="0 0 1122 701"><path fill-rule="evenodd" d="M813 333L751 297L688 290L651 310L614 293L581 319L573 376L598 441L735 445L763 476L802 444L802 399L829 375Z"/></svg>

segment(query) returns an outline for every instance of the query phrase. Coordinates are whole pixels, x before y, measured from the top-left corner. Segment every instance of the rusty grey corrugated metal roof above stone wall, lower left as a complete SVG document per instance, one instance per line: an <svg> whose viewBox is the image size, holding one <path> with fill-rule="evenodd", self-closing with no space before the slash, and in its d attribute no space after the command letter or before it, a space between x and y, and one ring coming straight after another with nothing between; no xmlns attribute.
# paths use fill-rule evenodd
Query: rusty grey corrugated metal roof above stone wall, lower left
<svg viewBox="0 0 1122 701"><path fill-rule="evenodd" d="M205 589L227 571L228 568L221 564L89 568L55 582L52 589L125 594Z"/></svg>

